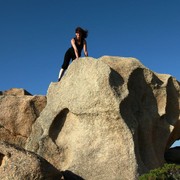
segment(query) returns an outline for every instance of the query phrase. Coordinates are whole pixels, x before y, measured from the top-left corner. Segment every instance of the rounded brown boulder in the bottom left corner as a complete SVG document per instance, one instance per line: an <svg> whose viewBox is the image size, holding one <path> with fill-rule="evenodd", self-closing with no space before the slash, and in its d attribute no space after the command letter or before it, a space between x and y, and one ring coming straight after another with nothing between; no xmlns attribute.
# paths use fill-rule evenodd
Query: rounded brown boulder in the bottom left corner
<svg viewBox="0 0 180 180"><path fill-rule="evenodd" d="M14 145L0 143L0 179L61 179L62 174L45 159Z"/></svg>

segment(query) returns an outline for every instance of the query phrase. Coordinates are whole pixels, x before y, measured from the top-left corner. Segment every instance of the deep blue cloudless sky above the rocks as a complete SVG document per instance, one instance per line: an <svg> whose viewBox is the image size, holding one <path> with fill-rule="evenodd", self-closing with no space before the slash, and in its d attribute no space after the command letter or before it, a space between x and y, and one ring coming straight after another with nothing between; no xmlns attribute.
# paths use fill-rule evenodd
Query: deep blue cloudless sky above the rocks
<svg viewBox="0 0 180 180"><path fill-rule="evenodd" d="M45 95L77 26L89 56L135 57L180 79L180 0L0 0L0 91Z"/></svg>

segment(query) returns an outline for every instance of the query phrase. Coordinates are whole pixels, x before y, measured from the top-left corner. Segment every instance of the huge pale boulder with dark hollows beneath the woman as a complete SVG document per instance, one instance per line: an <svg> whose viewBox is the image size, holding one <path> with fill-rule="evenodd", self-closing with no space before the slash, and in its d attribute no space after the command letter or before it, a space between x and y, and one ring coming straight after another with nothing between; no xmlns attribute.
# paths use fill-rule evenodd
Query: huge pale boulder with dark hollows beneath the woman
<svg viewBox="0 0 180 180"><path fill-rule="evenodd" d="M178 121L172 76L134 58L80 58L50 84L26 148L84 179L136 179L164 163Z"/></svg>

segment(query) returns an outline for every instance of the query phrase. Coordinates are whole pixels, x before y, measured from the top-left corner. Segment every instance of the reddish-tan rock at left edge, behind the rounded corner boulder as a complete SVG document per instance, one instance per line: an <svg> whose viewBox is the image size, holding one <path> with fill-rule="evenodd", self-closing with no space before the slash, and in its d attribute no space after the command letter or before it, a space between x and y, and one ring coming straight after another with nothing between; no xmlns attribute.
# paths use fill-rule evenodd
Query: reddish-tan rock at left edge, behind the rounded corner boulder
<svg viewBox="0 0 180 180"><path fill-rule="evenodd" d="M0 141L25 146L32 125L46 106L45 96L13 88L0 95Z"/></svg>

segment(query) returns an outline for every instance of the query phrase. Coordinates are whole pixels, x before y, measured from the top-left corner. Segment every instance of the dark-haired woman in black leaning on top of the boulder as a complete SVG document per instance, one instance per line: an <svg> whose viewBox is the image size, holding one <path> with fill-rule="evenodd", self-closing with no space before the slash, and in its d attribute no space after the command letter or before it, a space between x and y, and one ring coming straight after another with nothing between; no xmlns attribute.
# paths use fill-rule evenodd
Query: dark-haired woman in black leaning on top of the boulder
<svg viewBox="0 0 180 180"><path fill-rule="evenodd" d="M84 50L84 55L86 57L88 56L87 42L86 42L88 31L82 29L81 27L77 27L75 29L75 33L76 33L76 36L71 39L71 47L65 53L64 62L59 71L58 81L60 81L62 76L64 75L65 70L69 66L70 60L72 59L73 61L81 57L82 49Z"/></svg>

